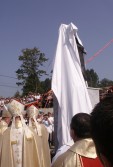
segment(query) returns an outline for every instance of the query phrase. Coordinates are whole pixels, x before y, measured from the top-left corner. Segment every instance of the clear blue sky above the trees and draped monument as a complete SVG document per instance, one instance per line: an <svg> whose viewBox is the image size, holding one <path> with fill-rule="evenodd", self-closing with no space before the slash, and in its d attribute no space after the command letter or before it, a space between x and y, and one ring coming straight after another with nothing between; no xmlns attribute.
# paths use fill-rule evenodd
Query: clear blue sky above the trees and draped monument
<svg viewBox="0 0 113 167"><path fill-rule="evenodd" d="M13 96L15 71L21 50L37 47L49 58L52 69L61 24L75 24L87 55L85 61L113 39L113 0L1 0L0 96ZM99 79L113 80L113 42L86 64ZM9 77L8 77L9 76Z"/></svg>

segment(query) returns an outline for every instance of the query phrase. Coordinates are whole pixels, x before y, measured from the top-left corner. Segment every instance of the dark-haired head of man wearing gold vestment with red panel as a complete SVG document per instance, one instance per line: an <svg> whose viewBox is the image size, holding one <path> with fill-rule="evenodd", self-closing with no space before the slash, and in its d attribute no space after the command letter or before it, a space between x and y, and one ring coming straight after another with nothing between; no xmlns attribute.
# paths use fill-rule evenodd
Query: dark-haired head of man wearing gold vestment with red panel
<svg viewBox="0 0 113 167"><path fill-rule="evenodd" d="M79 138L91 137L90 115L87 113L76 114L70 124L71 129Z"/></svg>

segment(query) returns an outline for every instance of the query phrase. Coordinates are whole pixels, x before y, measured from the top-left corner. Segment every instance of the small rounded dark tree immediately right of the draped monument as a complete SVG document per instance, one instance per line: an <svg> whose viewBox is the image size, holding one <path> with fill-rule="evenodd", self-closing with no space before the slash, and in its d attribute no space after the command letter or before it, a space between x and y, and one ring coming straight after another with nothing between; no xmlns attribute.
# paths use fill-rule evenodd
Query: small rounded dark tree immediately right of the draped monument
<svg viewBox="0 0 113 167"><path fill-rule="evenodd" d="M86 77L87 77L87 82L89 87L98 87L99 77L93 69L86 70Z"/></svg>

